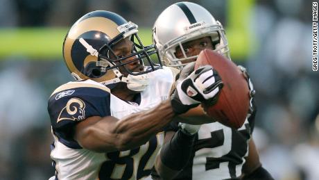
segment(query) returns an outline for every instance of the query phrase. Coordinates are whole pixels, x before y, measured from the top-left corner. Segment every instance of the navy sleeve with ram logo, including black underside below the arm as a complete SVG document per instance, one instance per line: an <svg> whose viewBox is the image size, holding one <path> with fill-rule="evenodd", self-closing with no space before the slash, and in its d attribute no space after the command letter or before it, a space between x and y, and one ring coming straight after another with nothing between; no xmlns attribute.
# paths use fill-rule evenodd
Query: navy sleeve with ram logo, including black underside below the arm
<svg viewBox="0 0 319 180"><path fill-rule="evenodd" d="M48 112L55 136L71 148L80 148L74 140L74 126L87 117L111 115L110 92L98 85L89 87L60 88L48 102Z"/></svg>

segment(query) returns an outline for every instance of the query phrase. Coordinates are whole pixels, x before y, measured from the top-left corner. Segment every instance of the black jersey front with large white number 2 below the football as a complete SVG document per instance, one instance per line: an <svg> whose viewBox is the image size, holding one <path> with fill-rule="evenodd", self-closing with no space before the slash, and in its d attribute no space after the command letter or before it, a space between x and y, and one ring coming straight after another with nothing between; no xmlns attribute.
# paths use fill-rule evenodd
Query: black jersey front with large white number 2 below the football
<svg viewBox="0 0 319 180"><path fill-rule="evenodd" d="M218 122L202 124L196 135L191 160L175 179L235 179L248 156L250 125L240 129Z"/></svg>

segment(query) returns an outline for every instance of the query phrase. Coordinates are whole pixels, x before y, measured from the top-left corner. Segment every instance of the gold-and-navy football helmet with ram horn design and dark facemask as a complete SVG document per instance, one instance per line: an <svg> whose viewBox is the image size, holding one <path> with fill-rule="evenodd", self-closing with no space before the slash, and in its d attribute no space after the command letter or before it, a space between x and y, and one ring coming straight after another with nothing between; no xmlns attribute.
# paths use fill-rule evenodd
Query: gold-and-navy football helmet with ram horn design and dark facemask
<svg viewBox="0 0 319 180"><path fill-rule="evenodd" d="M71 27L63 43L63 57L77 80L92 79L104 85L122 80L124 67L128 76L138 76L162 68L155 45L144 46L137 35L138 26L105 10L96 10L80 17ZM112 47L124 38L133 42L132 54L119 57ZM157 58L150 58L155 54ZM111 58L112 57L112 58ZM115 57L115 58L114 58ZM131 72L126 64L139 61L144 71Z"/></svg>

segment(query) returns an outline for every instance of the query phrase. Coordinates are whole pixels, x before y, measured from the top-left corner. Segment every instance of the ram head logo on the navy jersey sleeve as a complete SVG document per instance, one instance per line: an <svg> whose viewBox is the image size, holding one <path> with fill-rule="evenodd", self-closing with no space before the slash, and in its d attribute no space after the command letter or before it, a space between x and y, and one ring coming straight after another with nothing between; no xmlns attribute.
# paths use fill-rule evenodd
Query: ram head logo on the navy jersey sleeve
<svg viewBox="0 0 319 180"><path fill-rule="evenodd" d="M62 120L81 121L85 120L85 103L81 99L72 98L67 101L58 117L58 122Z"/></svg>

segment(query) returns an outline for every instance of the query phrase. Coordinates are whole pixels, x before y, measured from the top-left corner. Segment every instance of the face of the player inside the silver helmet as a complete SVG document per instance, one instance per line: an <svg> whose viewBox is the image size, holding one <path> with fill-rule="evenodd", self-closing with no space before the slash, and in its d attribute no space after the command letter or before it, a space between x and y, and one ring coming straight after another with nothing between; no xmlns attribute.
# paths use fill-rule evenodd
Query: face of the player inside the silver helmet
<svg viewBox="0 0 319 180"><path fill-rule="evenodd" d="M212 44L212 40L210 37L204 37L197 40L191 40L189 42L184 42L182 44L182 47L184 48L184 52L187 55L187 57L191 56L197 56L200 54L200 51L204 49L213 49L214 46ZM180 46L176 48L175 52L176 58L184 58L184 55L182 53L182 49L180 49ZM185 60L183 63L191 63L192 61L195 61L196 59L189 59Z"/></svg>

